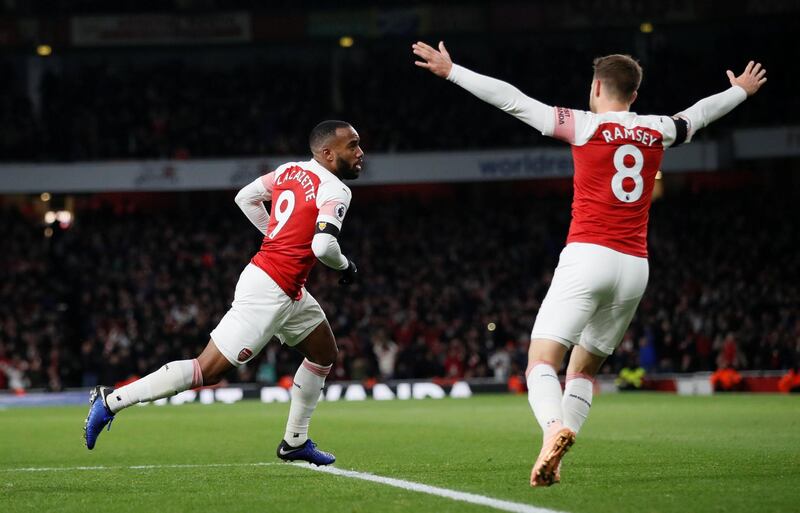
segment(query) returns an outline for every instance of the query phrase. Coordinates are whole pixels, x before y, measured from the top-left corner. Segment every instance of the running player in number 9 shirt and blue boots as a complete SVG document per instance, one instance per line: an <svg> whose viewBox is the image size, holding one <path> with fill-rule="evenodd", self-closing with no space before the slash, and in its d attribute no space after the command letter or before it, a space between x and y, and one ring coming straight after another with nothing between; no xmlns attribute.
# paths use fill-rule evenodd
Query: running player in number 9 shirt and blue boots
<svg viewBox="0 0 800 513"><path fill-rule="evenodd" d="M364 152L358 133L343 121L317 125L309 146L311 160L284 164L236 195L236 203L264 234L264 241L242 272L233 304L211 332L205 350L193 360L170 362L116 390L96 387L85 425L89 449L118 411L218 383L275 336L305 356L294 376L289 420L278 457L317 465L335 461L308 438L311 414L338 349L324 312L304 285L317 260L341 271L339 283L343 285L357 277L356 266L342 254L337 236L351 198L342 180L358 178ZM269 213L265 201L272 202Z"/></svg>

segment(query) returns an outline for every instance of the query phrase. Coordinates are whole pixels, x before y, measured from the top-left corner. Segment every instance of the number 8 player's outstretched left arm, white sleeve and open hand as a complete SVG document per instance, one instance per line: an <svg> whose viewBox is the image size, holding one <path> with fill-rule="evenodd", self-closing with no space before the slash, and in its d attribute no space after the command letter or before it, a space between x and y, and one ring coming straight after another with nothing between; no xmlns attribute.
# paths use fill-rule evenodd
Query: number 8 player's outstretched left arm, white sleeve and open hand
<svg viewBox="0 0 800 513"><path fill-rule="evenodd" d="M414 62L420 68L463 87L486 103L508 112L545 135L552 133L555 123L552 107L526 96L507 82L454 64L444 42L439 41L438 50L422 41L411 45L411 49L414 55L422 59Z"/></svg>

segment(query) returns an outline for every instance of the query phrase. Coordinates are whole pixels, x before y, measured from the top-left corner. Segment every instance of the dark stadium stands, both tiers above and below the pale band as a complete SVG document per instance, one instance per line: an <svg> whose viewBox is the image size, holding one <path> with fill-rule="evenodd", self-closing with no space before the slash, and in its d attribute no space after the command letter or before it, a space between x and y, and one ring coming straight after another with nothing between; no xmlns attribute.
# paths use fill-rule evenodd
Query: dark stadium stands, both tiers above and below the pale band
<svg viewBox="0 0 800 513"><path fill-rule="evenodd" d="M306 155L309 127L327 117L358 128L367 166L378 152L556 144L415 68L417 38L443 38L459 63L542 101L584 108L592 59L629 51L645 70L634 104L642 113L684 109L727 87L726 69L758 58L770 69L768 93L698 139L725 155L734 129L798 124L786 63L800 61L800 45L785 41L800 18L790 0L741 10L683 0L391 1L382 8L402 19L416 6L463 8L464 16L441 34L413 16L409 27L370 25L351 48L312 23L330 14L330 2L307 2L302 14L294 4L270 2L290 27L273 35L259 28L269 16L251 0L3 2L0 161ZM340 4L381 13L367 2ZM71 16L223 8L244 13L249 39L123 48L70 39ZM645 20L655 28L640 26ZM52 56L32 54L50 39ZM797 178L784 183L797 160L732 161L717 175L747 170L738 188L720 188L718 176L708 189L676 187L654 203L647 294L604 372L628 362L648 375L800 365L800 201ZM342 244L364 282L344 294L325 269L309 282L340 346L333 379L520 374L569 222L567 187L545 194L541 185L451 184L435 195L356 188ZM259 242L227 192L79 194L75 222L54 224L51 236L26 201L0 195L0 389L114 383L193 357ZM270 344L232 379L274 382L296 366L292 352Z"/></svg>

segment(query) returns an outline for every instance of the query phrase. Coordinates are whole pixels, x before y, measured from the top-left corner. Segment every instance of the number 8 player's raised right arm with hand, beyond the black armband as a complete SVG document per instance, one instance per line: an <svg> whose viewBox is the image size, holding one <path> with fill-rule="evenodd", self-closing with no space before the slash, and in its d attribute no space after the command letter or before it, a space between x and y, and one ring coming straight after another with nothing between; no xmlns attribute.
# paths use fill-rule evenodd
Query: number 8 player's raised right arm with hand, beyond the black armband
<svg viewBox="0 0 800 513"><path fill-rule="evenodd" d="M691 140L695 132L718 120L732 111L736 106L745 101L748 96L758 92L767 81L767 70L761 63L750 61L744 72L738 77L731 70L727 71L731 82L730 89L719 94L703 98L688 109L679 112L675 117L683 118L689 122L689 136Z"/></svg>

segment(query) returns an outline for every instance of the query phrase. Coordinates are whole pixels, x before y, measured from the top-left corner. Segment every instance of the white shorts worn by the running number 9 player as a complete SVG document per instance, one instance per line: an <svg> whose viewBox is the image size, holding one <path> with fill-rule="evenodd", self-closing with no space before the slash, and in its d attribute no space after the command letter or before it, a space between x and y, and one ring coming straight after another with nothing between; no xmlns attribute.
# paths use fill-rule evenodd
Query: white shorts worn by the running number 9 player
<svg viewBox="0 0 800 513"><path fill-rule="evenodd" d="M282 344L302 342L325 320L317 300L303 289L299 301L292 301L262 269L247 264L233 295L233 303L211 340L234 366L247 363L273 336Z"/></svg>

